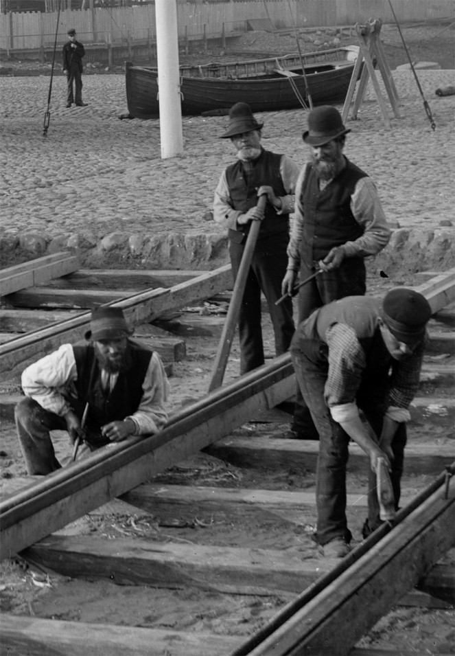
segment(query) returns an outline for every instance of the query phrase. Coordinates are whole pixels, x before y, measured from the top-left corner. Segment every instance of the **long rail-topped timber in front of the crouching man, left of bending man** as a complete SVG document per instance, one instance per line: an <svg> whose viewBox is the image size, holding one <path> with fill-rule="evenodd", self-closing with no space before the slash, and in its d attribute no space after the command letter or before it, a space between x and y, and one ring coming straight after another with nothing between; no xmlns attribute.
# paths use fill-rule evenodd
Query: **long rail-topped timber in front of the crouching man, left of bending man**
<svg viewBox="0 0 455 656"><path fill-rule="evenodd" d="M288 354L174 413L150 438L99 449L0 503L0 558L21 551L85 512L126 493L241 426L258 408L292 396ZM233 411L235 408L235 411Z"/></svg>

